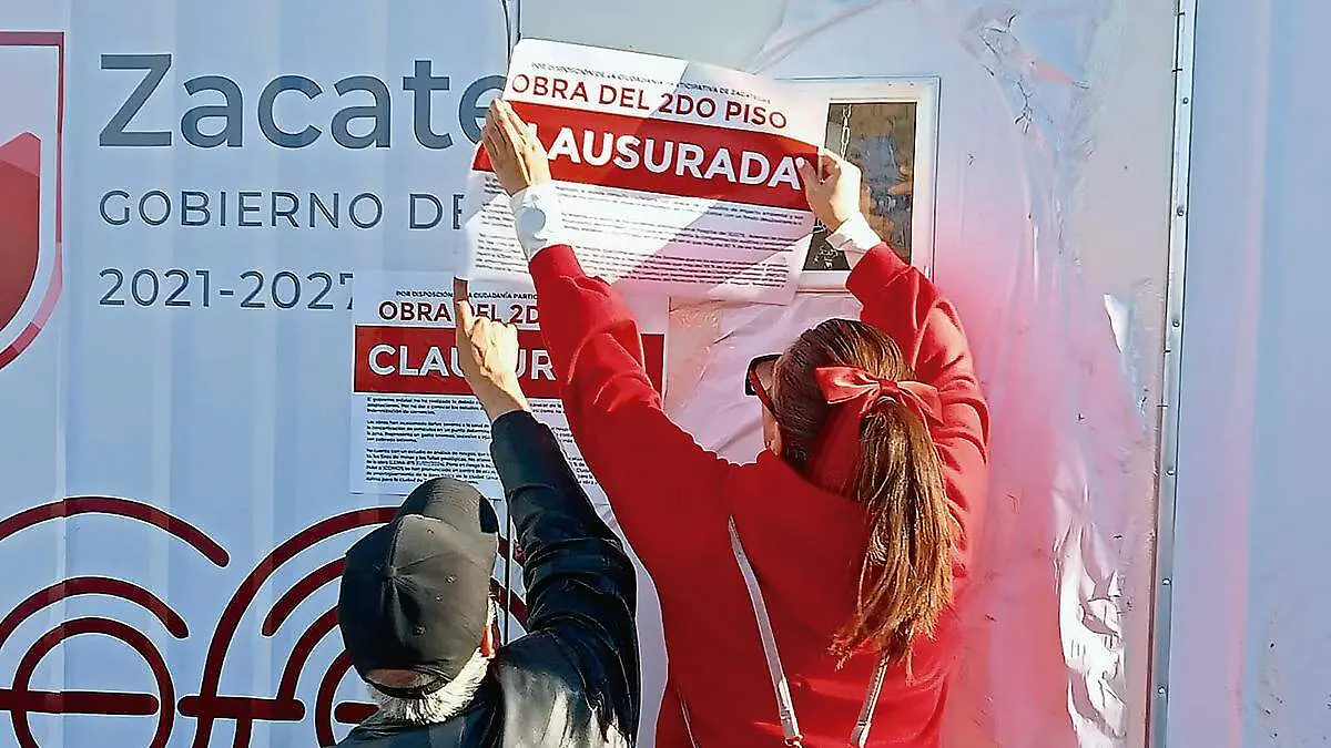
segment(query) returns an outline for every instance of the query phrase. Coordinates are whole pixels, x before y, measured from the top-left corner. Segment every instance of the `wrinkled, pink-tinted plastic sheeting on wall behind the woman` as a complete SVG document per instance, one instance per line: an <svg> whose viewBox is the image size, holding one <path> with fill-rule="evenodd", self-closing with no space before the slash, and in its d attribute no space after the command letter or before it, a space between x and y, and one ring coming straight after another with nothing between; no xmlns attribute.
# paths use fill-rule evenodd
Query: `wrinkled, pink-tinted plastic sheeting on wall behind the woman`
<svg viewBox="0 0 1331 748"><path fill-rule="evenodd" d="M1098 289L1069 222L1095 146L1091 43L1114 12L1097 0L801 0L752 64L779 77L942 77L932 273L964 315L993 415L984 583L949 696L950 747L1123 745L1145 720L1157 349L1139 318L1159 314L1159 295ZM1147 287L1162 287L1163 254L1142 269ZM855 314L844 294L676 303L672 415L752 461L748 361Z"/></svg>

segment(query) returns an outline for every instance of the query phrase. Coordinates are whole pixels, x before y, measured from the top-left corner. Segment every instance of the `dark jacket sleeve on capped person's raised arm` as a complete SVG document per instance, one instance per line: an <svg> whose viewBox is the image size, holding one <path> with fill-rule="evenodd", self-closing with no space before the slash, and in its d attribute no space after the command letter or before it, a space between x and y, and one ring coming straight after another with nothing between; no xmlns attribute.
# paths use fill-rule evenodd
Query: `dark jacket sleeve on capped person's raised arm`
<svg viewBox="0 0 1331 748"><path fill-rule="evenodd" d="M636 574L596 515L555 435L530 413L495 421L490 446L526 556L527 631L559 639L580 689L636 731L642 703Z"/></svg>

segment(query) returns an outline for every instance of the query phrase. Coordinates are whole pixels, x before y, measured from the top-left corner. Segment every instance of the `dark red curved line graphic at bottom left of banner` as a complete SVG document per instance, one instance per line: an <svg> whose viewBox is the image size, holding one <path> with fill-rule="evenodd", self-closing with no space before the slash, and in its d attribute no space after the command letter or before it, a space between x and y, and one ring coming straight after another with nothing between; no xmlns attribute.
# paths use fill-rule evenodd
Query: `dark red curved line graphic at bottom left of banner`
<svg viewBox="0 0 1331 748"><path fill-rule="evenodd" d="M36 737L28 721L28 715L31 713L108 715L121 717L156 716L153 735L148 747L165 748L176 724L176 715L178 713L180 716L196 719L193 744L200 748L212 744L213 725L217 720L234 721L236 728L232 745L237 748L248 747L254 735L254 724L257 721L298 723L306 719L307 709L305 701L297 696L297 692L301 675L313 669L318 673L313 715L315 736L319 745L331 745L335 741L333 733L334 721L354 724L373 713L375 708L367 703L335 703L337 688L350 673L350 660L346 657L345 651L339 648L338 655L323 672L318 672L318 667L311 665L310 659L319 643L334 635L333 632L337 628L335 608L326 610L310 623L293 644L282 668L277 693L273 697L221 695L218 687L222 665L230 643L240 631L240 620L244 618L245 611L249 610L257 592L272 579L273 574L281 566L306 548L339 532L386 522L395 511L397 507L375 507L349 511L323 519L297 532L261 559L241 583L217 622L208 648L198 695L185 696L178 703L176 703L172 672L166 661L152 640L142 632L125 623L104 618L80 618L56 626L23 655L12 685L9 688L0 688L0 711L11 713L17 744L21 748L37 747ZM0 540L49 519L63 519L91 512L144 522L150 527L156 527L189 543L218 567L225 567L228 563L225 550L192 524L149 504L109 496L71 496L0 519ZM508 543L502 540L500 554L508 555L510 552L518 555L516 548L510 548ZM303 575L286 592L278 596L264 618L260 634L268 638L274 636L302 602L339 578L342 566L342 558L337 558ZM510 611L510 615L519 624L526 626L527 611L522 599L508 594L498 580L491 580L491 591L495 599L504 602L504 607ZM128 600L149 611L176 639L186 639L189 636L189 627L185 624L185 620L160 598L141 586L105 576L76 576L33 592L9 611L4 619L0 619L0 647L19 630L24 620L31 619L35 614L61 600L80 595L102 595ZM81 635L100 635L130 647L148 665L157 692L126 693L79 689L32 689L32 676L36 673L41 660L65 640Z"/></svg>

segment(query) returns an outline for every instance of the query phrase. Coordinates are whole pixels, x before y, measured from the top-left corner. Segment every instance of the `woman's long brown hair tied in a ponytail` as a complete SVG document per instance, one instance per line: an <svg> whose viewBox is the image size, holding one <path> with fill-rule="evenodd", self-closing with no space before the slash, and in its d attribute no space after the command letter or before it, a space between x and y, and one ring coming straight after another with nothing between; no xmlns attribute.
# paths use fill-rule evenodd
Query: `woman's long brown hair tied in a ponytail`
<svg viewBox="0 0 1331 748"><path fill-rule="evenodd" d="M776 363L772 415L783 457L805 475L833 407L813 377L823 366L857 366L897 381L914 375L892 338L864 322L828 319L800 335ZM932 636L952 600L952 515L928 425L880 399L861 422L860 455L843 494L868 508L869 546L855 612L832 654L844 661L872 643L909 667L914 638Z"/></svg>

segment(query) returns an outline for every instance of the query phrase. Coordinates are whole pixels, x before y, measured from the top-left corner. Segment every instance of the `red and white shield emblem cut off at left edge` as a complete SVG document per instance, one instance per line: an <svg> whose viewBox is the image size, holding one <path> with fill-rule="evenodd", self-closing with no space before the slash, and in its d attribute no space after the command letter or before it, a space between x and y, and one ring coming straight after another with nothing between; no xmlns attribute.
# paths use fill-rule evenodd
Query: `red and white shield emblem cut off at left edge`
<svg viewBox="0 0 1331 748"><path fill-rule="evenodd" d="M0 369L51 319L60 297L64 37L0 32ZM12 93L11 93L12 92Z"/></svg>

